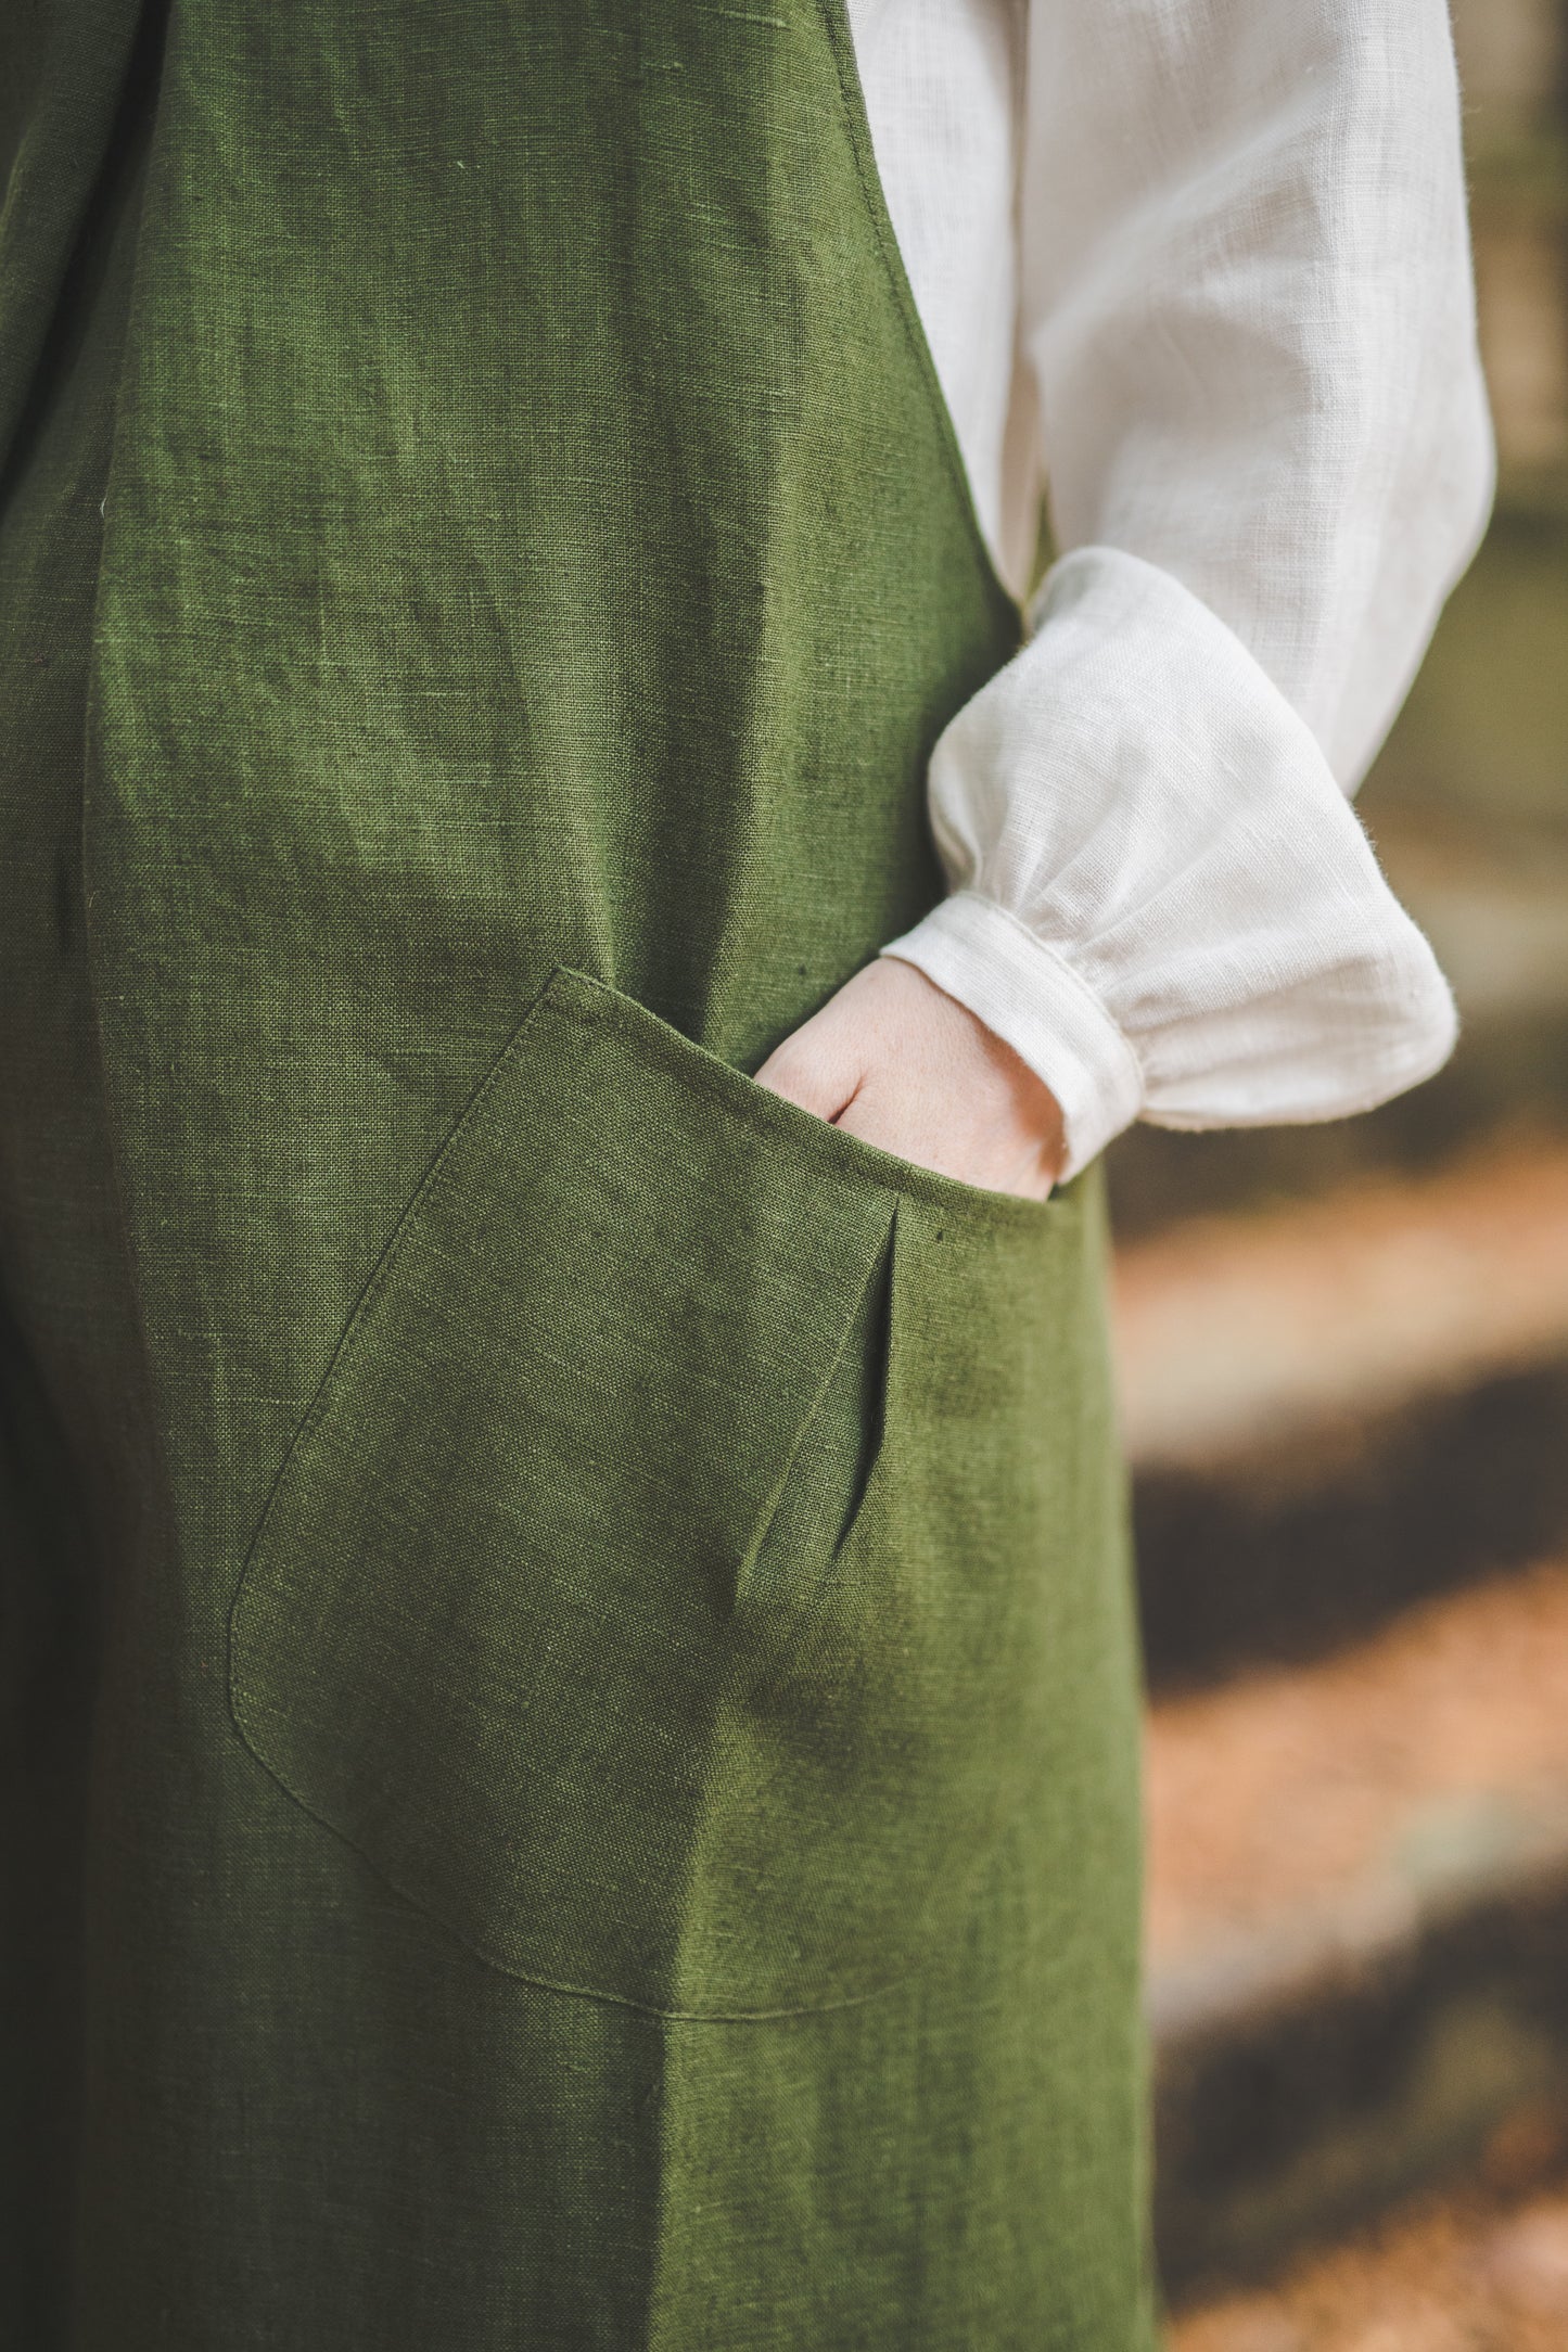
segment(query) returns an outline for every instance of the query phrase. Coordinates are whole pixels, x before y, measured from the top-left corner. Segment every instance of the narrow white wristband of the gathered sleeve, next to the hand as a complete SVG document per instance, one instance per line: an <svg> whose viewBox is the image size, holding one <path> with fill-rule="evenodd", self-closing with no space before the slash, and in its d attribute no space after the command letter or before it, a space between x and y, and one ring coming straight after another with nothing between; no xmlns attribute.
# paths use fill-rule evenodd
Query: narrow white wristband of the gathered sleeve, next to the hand
<svg viewBox="0 0 1568 2352"><path fill-rule="evenodd" d="M966 1004L1046 1082L1063 1108L1063 1181L1143 1108L1143 1070L1098 995L1016 915L959 889L882 950Z"/></svg>

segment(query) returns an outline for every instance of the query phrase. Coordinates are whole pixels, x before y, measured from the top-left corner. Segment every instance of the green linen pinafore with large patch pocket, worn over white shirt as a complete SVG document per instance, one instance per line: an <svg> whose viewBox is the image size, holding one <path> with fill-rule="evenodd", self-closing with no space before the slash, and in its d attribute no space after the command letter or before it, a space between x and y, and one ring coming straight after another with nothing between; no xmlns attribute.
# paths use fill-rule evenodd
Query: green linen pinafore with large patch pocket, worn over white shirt
<svg viewBox="0 0 1568 2352"><path fill-rule="evenodd" d="M0 31L0 2343L1147 2340L1098 1176L839 0Z"/></svg>

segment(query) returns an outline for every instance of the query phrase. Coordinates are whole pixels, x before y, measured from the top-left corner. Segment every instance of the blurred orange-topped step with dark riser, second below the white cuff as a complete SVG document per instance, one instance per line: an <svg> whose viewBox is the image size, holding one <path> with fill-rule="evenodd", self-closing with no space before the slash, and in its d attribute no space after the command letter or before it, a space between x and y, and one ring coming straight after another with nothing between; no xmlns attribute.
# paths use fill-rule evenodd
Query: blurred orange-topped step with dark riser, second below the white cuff
<svg viewBox="0 0 1568 2352"><path fill-rule="evenodd" d="M1568 1559L1157 1705L1147 1792L1175 2296L1568 2110Z"/></svg>

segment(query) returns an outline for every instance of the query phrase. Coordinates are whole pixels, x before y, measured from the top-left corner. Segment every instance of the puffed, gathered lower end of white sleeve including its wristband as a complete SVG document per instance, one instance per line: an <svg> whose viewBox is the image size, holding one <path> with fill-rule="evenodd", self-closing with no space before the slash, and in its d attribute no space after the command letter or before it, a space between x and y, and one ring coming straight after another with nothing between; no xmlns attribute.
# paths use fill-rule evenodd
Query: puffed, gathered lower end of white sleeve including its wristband
<svg viewBox="0 0 1568 2352"><path fill-rule="evenodd" d="M1070 1171L1133 1117L1335 1120L1429 1077L1448 985L1258 659L1119 548L1034 619L931 760L954 896L886 953L1044 1077Z"/></svg>

